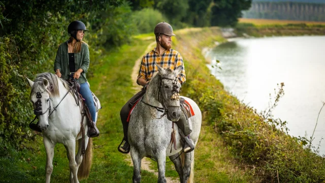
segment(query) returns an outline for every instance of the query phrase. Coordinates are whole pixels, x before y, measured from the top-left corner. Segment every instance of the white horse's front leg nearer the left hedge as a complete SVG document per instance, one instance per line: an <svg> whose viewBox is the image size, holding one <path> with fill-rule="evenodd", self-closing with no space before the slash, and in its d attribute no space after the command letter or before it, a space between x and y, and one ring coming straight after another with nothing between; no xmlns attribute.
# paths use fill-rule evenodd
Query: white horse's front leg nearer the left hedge
<svg viewBox="0 0 325 183"><path fill-rule="evenodd" d="M50 183L51 174L53 171L53 156L54 156L54 146L50 139L46 136L43 138L45 150L46 150L46 183Z"/></svg>

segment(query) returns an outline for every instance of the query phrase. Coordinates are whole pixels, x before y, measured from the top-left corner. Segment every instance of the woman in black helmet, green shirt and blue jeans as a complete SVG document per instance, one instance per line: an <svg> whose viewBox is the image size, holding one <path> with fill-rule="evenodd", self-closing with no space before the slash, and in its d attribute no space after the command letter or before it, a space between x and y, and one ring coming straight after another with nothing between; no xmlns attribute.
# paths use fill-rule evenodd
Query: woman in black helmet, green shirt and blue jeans
<svg viewBox="0 0 325 183"><path fill-rule="evenodd" d="M69 78L70 73L74 73L73 78L77 79L77 82L80 83L80 94L85 99L92 121L95 121L95 105L86 79L86 73L89 68L89 48L82 41L84 31L88 30L81 21L73 21L69 24L68 33L71 37L57 49L54 71L58 77L65 80ZM88 123L88 127L90 127L90 131L88 132L89 137L99 135L95 123L90 123L90 125Z"/></svg>

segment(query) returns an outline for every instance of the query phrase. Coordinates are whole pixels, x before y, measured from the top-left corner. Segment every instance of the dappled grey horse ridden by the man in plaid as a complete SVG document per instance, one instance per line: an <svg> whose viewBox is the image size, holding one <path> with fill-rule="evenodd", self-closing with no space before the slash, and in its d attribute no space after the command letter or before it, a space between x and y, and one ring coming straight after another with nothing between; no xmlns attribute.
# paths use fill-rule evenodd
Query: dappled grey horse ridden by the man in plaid
<svg viewBox="0 0 325 183"><path fill-rule="evenodd" d="M157 161L158 182L166 182L167 156L174 163L180 181L192 182L194 150L179 156L182 150L181 134L176 124L174 124L174 131L172 130L172 121L178 121L181 115L180 101L175 100L181 86L176 77L181 66L175 71L157 67L158 73L151 79L146 94L134 107L129 119L128 142L131 145L130 151L134 164L133 182L141 181L141 160L144 157L151 157ZM191 105L195 114L188 120L192 129L190 137L196 145L201 131L202 114L194 101L186 97L182 98ZM171 143L172 132L176 137L176 149Z"/></svg>

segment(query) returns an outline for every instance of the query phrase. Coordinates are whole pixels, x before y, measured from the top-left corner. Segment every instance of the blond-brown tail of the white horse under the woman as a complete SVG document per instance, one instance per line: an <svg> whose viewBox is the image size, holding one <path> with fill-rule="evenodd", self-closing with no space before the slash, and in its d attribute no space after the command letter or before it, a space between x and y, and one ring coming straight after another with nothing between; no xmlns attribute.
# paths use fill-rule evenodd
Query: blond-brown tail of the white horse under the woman
<svg viewBox="0 0 325 183"><path fill-rule="evenodd" d="M82 157L82 162L78 169L79 180L89 177L91 164L92 164L92 138L89 138L85 155Z"/></svg>

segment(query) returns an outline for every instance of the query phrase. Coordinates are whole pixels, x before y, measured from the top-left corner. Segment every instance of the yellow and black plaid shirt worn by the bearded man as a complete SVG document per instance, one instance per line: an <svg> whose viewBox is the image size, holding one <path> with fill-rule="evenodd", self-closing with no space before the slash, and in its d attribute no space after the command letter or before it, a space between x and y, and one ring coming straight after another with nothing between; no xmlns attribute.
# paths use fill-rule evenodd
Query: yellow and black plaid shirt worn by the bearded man
<svg viewBox="0 0 325 183"><path fill-rule="evenodd" d="M169 68L171 70L175 70L178 66L183 66L177 77L182 84L186 81L183 58L179 52L169 49L166 50L163 55L159 56L156 48L154 48L142 58L137 83L139 78L150 81L153 74L158 71L155 64L158 64L162 68Z"/></svg>

